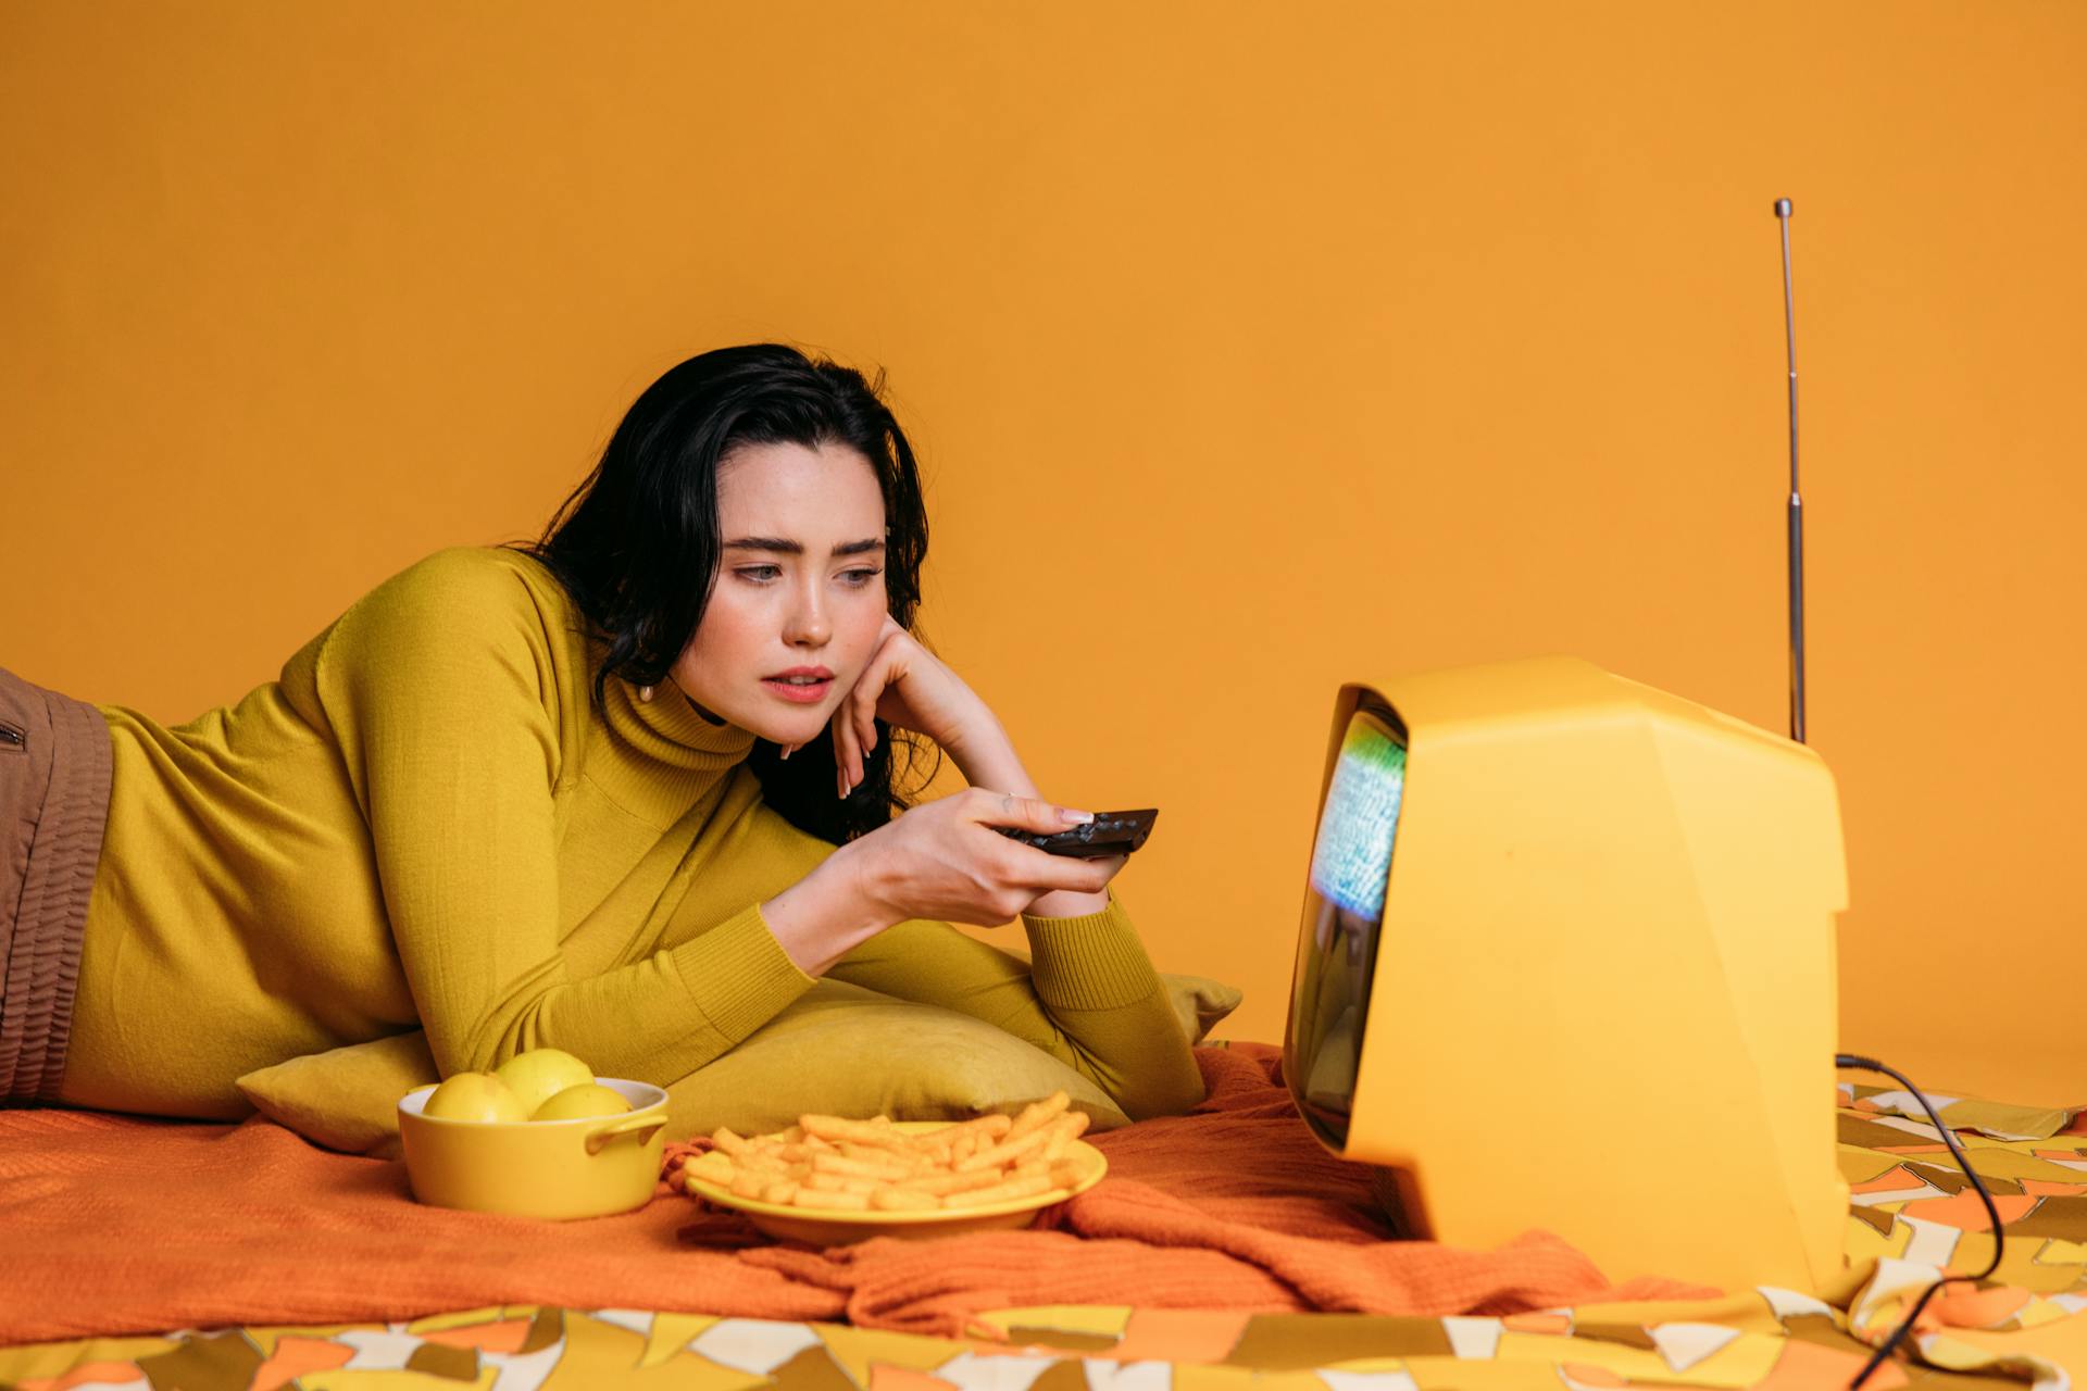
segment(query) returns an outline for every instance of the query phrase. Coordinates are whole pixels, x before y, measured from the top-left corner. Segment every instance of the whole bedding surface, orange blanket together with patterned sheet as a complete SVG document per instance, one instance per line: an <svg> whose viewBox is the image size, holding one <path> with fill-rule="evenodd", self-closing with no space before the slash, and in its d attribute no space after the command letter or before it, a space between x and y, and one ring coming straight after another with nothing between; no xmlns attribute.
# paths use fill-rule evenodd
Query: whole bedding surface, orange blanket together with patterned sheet
<svg viewBox="0 0 2087 1391"><path fill-rule="evenodd" d="M1037 1228L831 1251L670 1182L641 1212L547 1226L422 1207L397 1162L259 1120L4 1112L0 1383L1834 1387L1901 1291L1991 1251L1937 1132L1880 1089L1841 1091L1853 1266L1822 1303L1686 1272L1611 1285L1549 1233L1386 1241L1363 1170L1296 1120L1277 1049L1198 1061L1210 1099L1094 1137L1108 1180ZM1970 1099L1943 1120L2008 1220L2004 1262L1937 1297L1920 1362L1870 1385L2066 1385L2087 1366L2087 1124ZM1705 1241L1730 1239L1705 1195Z"/></svg>

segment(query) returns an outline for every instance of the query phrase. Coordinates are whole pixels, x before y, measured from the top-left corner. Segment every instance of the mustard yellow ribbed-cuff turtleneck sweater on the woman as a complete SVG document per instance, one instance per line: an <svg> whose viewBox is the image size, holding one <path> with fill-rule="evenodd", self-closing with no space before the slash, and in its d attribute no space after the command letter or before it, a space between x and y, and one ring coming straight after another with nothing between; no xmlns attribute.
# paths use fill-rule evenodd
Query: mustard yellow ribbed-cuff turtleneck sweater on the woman
<svg viewBox="0 0 2087 1391"><path fill-rule="evenodd" d="M236 1118L232 1080L426 1028L442 1074L559 1047L672 1082L803 993L760 903L833 847L768 809L753 734L609 680L559 582L497 548L386 580L232 707L102 707L115 776L61 1099ZM904 922L829 974L947 1005L1125 1114L1202 1082L1110 893L1031 963Z"/></svg>

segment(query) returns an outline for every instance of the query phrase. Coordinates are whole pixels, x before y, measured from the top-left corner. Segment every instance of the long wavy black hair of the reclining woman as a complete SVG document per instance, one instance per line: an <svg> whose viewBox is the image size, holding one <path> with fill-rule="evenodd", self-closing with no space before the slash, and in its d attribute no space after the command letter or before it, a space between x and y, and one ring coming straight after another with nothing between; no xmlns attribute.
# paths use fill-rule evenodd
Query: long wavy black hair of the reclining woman
<svg viewBox="0 0 2087 1391"><path fill-rule="evenodd" d="M864 382L851 367L772 342L691 357L645 388L543 540L513 546L557 576L593 636L607 642L595 672L597 707L611 676L634 686L664 684L703 621L722 551L718 461L743 444L845 446L870 461L889 528L885 596L891 617L912 632L927 507L912 446L883 402L883 388L881 371ZM841 845L910 805L897 786L895 747L906 749L912 770L922 745L904 732L893 738L879 719L877 749L845 801L833 795L831 726L826 738L797 749L789 761L778 745L755 738L747 765L764 801L791 826Z"/></svg>

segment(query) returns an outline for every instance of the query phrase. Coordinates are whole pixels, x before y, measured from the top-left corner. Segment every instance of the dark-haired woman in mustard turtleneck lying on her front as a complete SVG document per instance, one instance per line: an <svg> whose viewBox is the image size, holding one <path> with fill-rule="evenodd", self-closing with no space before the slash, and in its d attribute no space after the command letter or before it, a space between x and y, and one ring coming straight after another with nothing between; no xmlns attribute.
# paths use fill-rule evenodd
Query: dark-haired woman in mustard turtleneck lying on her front
<svg viewBox="0 0 2087 1391"><path fill-rule="evenodd" d="M1083 813L910 634L925 553L877 386L722 348L538 544L413 565L238 705L161 728L0 672L0 1091L236 1118L240 1074L409 1028L445 1076L559 1047L666 1084L831 974L1185 1109L1123 861L993 830ZM908 807L897 730L970 790ZM1033 966L950 926L1016 911Z"/></svg>

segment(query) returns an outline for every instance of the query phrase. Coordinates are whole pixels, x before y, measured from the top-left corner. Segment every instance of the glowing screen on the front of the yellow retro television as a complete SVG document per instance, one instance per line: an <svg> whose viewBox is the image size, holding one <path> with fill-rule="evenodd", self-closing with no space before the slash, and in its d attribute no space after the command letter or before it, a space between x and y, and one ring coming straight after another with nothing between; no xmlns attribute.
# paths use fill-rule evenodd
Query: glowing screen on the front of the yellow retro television
<svg viewBox="0 0 2087 1391"><path fill-rule="evenodd" d="M1319 807L1286 1047L1290 1093L1336 1149L1348 1143L1405 784L1405 724L1365 694L1348 717Z"/></svg>

